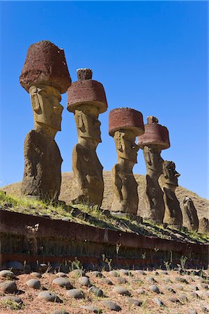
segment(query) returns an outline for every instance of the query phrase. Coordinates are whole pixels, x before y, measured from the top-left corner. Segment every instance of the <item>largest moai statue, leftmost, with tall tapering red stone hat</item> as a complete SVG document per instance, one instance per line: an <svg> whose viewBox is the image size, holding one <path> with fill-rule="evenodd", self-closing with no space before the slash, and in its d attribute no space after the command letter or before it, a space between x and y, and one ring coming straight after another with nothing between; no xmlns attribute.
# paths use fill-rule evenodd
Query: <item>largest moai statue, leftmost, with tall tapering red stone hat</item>
<svg viewBox="0 0 209 314"><path fill-rule="evenodd" d="M71 84L63 50L48 40L31 45L20 84L31 96L34 120L24 141L22 193L56 201L63 160L54 137L61 130L61 94Z"/></svg>

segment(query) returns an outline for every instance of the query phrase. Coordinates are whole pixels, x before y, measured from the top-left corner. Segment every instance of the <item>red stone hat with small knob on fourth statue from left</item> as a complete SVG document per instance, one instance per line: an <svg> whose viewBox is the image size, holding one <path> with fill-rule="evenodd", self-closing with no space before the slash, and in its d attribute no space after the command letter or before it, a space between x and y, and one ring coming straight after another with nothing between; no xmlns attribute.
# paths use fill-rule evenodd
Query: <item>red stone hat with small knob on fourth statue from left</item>
<svg viewBox="0 0 209 314"><path fill-rule="evenodd" d="M157 118L153 116L148 117L147 120L148 124L144 125L144 134L138 137L139 147L159 145L161 149L168 149L170 147L168 129L158 124Z"/></svg>

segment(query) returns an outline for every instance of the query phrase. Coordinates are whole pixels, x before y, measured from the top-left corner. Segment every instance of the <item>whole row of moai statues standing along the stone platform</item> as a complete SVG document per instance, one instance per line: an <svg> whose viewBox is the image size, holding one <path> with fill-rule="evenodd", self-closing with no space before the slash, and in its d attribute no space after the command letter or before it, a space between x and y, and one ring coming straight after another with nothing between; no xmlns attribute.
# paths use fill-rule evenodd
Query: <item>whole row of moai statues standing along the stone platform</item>
<svg viewBox="0 0 209 314"><path fill-rule="evenodd" d="M22 193L54 202L59 199L63 160L54 137L61 130L61 94L68 91L67 109L74 114L78 133L78 143L72 151L72 203L100 207L104 181L103 167L96 154L102 142L98 116L107 111L107 99L102 84L92 80L91 69L78 69L77 77L77 82L72 83L65 54L53 43L44 40L29 47L20 84L31 96L34 129L24 142ZM144 125L141 112L117 108L109 112L109 135L114 137L118 156L112 169L111 211L137 216L138 184L132 169L137 163L137 151L143 149L147 171L144 218L153 223L183 225L183 214L175 195L180 174L173 162L160 156L162 149L170 147L167 128L158 124L155 117L148 117ZM196 209L190 206L189 215L195 220ZM196 230L196 220L193 225Z"/></svg>

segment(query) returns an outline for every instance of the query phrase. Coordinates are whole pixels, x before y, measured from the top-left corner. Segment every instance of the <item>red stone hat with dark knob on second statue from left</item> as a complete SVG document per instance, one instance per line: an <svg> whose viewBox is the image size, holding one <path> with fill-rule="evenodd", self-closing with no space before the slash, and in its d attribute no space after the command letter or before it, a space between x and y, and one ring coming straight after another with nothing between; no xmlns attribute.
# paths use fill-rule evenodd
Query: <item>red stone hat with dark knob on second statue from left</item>
<svg viewBox="0 0 209 314"><path fill-rule="evenodd" d="M78 81L68 89L68 111L75 112L78 105L93 105L99 113L107 111L107 98L103 85L91 80L92 70L80 68L77 70Z"/></svg>

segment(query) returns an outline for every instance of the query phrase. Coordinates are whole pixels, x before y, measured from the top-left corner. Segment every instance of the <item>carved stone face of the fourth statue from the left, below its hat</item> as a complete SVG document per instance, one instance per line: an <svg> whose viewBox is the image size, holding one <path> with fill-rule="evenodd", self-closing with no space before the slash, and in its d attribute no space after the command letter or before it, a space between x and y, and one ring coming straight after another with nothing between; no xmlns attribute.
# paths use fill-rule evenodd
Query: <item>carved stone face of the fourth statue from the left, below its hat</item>
<svg viewBox="0 0 209 314"><path fill-rule="evenodd" d="M160 147L157 146L144 147L144 159L146 161L146 167L159 174L162 174L163 159L160 156L160 153L161 153Z"/></svg>

